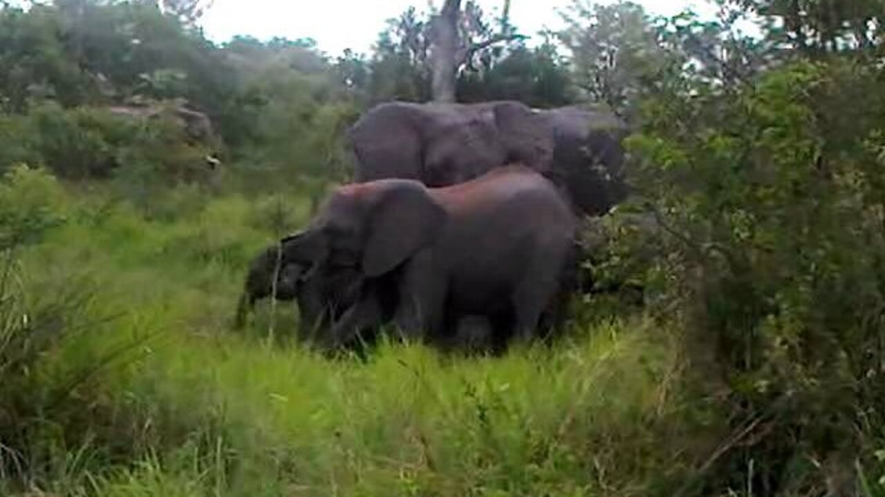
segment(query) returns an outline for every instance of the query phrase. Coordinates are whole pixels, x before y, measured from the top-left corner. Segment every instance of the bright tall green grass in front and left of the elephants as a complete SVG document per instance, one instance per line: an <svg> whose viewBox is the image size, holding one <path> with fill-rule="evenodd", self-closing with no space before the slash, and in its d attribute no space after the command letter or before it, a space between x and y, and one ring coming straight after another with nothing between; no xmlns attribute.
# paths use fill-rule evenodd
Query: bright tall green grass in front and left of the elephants
<svg viewBox="0 0 885 497"><path fill-rule="evenodd" d="M50 455L6 493L666 494L712 450L673 335L649 321L574 323L500 358L382 343L327 360L289 340L293 306L273 343L266 308L229 326L247 262L304 223L303 196L64 201L21 256L22 288L88 295L87 328L34 363L35 385L73 386L29 439Z"/></svg>

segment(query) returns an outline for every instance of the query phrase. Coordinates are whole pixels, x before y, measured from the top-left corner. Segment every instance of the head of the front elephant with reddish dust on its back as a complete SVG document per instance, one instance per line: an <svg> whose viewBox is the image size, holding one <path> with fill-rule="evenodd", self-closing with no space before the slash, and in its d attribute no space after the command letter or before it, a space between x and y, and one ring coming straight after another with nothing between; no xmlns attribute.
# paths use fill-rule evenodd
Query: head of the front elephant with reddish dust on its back
<svg viewBox="0 0 885 497"><path fill-rule="evenodd" d="M432 242L444 218L442 207L418 181L378 180L338 188L311 226L281 240L281 263L307 268L297 292L304 335L327 334L328 326L358 302L361 312L371 309L373 316L359 328L389 319L396 308L396 287L388 273ZM327 339L325 334L320 338Z"/></svg>

